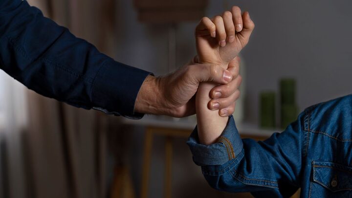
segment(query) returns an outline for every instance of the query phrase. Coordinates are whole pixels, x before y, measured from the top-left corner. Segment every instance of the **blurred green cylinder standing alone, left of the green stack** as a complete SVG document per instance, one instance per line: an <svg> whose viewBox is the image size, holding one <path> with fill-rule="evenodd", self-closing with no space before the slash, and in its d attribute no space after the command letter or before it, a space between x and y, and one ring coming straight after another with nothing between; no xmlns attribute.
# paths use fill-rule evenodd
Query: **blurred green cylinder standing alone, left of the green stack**
<svg viewBox="0 0 352 198"><path fill-rule="evenodd" d="M274 91L264 91L260 94L260 127L275 128L275 97Z"/></svg>

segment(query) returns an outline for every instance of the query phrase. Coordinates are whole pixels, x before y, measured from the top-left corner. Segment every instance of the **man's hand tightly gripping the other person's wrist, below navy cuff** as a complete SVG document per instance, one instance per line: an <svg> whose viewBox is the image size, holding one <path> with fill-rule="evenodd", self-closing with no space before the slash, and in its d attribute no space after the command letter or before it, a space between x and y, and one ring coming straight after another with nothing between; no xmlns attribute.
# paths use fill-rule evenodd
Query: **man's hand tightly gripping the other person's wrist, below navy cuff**
<svg viewBox="0 0 352 198"><path fill-rule="evenodd" d="M231 115L234 112L232 98L239 94L237 89L241 84L239 64L238 58L230 62L228 69L191 62L165 77L148 76L137 95L135 111L173 117L193 115L199 84L211 81L220 86L210 93L213 100L208 104L209 109L226 111L224 116Z"/></svg>

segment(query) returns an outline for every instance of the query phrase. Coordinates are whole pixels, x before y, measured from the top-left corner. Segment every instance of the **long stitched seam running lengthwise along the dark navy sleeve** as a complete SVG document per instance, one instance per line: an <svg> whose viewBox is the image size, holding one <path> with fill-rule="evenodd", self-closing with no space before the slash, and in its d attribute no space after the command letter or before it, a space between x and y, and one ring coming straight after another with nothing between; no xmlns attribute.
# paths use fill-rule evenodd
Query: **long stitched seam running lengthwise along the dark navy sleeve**
<svg viewBox="0 0 352 198"><path fill-rule="evenodd" d="M31 62L34 61L34 59L30 58L30 57L27 55L27 53L22 49L22 47L21 47L14 39L12 39L11 37L7 37L7 39L8 39L8 41L9 41L9 43L14 47L14 49L17 50L17 51L19 51L19 52L22 54L22 56L23 56L24 58L26 58L27 60L29 60L29 61L31 61ZM54 62L54 61L52 61L52 60L49 60L49 59L46 59L46 58L43 58L43 57L40 57L38 60L39 60L39 61L43 61L44 63L47 63L47 64L49 64L49 65L52 65L52 66L54 66L55 68L58 68L58 69L60 69L60 70L63 70L63 71L65 71L66 73L69 73L69 74L75 76L76 78L82 79L82 80L84 80L84 81L86 81L86 82L88 82L88 83L91 83L92 80L93 80L92 78L84 77L84 75L79 74L79 73L76 73L76 72L73 71L72 69L69 69L69 68L67 68L67 67L65 67L65 66L62 66L61 64L59 64L59 63L57 63L57 62Z"/></svg>

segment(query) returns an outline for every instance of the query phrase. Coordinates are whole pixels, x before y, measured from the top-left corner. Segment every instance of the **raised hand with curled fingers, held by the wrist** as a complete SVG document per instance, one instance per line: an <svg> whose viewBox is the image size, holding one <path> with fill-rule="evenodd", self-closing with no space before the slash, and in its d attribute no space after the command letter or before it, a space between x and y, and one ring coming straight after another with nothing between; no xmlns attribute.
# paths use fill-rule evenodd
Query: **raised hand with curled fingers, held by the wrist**
<svg viewBox="0 0 352 198"><path fill-rule="evenodd" d="M213 19L204 17L196 28L198 63L226 68L248 43L253 29L249 13L242 14L238 6Z"/></svg>

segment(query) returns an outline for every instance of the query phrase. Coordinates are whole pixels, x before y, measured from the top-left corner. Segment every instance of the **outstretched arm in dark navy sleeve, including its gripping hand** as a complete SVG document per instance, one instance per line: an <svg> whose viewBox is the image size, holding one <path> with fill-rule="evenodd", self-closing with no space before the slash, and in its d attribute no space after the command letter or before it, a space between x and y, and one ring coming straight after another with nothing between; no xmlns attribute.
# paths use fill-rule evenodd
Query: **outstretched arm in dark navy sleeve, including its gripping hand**
<svg viewBox="0 0 352 198"><path fill-rule="evenodd" d="M221 84L212 92L222 98L237 89L229 83L233 71L218 66L191 63L156 78L115 62L22 0L0 1L0 69L46 97L130 118L194 114L200 82Z"/></svg>

